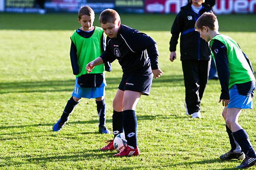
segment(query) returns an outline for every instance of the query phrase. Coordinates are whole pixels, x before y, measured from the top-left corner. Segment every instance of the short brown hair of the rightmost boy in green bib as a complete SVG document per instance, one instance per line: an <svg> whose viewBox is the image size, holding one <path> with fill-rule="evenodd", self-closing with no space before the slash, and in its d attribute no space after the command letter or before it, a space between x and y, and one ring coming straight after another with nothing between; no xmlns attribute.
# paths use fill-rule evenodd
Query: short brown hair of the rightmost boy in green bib
<svg viewBox="0 0 256 170"><path fill-rule="evenodd" d="M196 21L195 29L202 30L203 26L209 27L211 30L218 30L219 25L217 17L211 12L205 12Z"/></svg>

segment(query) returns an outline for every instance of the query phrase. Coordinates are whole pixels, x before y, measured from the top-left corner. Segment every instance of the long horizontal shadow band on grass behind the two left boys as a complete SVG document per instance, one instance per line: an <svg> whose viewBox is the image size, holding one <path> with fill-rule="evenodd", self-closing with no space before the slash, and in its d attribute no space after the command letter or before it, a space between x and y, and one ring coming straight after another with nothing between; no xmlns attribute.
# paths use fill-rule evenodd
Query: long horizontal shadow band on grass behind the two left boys
<svg viewBox="0 0 256 170"><path fill-rule="evenodd" d="M116 84L115 87L106 87L108 89L117 89L121 77L106 78L107 84ZM161 87L162 83L170 83L168 86L180 86L183 82L183 76L162 76L157 80L153 80L152 87ZM42 80L28 82L3 82L0 83L0 94L8 93L44 93L44 92L72 92L74 90L75 81L70 80Z"/></svg>

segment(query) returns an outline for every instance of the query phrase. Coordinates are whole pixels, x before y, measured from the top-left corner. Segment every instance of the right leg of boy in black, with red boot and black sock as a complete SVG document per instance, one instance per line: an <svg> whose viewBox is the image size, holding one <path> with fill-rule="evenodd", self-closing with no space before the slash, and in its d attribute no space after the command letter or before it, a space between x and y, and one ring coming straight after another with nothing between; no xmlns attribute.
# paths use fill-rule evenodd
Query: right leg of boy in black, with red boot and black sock
<svg viewBox="0 0 256 170"><path fill-rule="evenodd" d="M135 114L136 105L140 99L141 92L130 90L124 91L123 98L123 126L128 147L114 156L132 156L140 153L137 147L137 118Z"/></svg>

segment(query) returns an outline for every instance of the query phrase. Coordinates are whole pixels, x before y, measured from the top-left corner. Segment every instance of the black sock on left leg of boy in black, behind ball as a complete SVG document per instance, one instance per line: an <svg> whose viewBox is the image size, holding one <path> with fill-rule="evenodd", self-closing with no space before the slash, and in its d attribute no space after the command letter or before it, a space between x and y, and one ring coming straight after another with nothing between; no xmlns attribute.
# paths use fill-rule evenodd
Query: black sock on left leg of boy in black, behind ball
<svg viewBox="0 0 256 170"><path fill-rule="evenodd" d="M114 137L119 133L122 133L123 130L123 112L122 111L114 111L112 115L112 125L113 125L113 134Z"/></svg>

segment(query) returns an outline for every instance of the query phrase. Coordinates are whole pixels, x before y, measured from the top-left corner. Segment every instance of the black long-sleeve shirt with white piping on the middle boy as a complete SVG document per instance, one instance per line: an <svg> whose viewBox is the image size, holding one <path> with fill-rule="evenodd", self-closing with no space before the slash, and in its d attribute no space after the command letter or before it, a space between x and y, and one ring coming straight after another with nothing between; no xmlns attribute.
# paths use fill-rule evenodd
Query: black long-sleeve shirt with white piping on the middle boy
<svg viewBox="0 0 256 170"><path fill-rule="evenodd" d="M150 74L158 68L156 42L148 35L122 24L116 38L107 37L106 51L100 57L110 63L118 59L123 73Z"/></svg>

